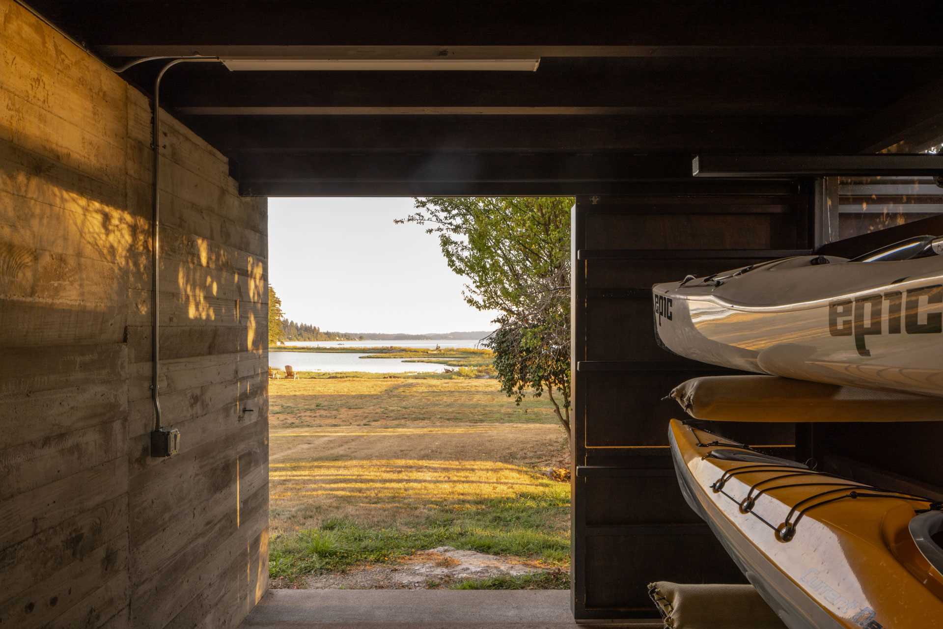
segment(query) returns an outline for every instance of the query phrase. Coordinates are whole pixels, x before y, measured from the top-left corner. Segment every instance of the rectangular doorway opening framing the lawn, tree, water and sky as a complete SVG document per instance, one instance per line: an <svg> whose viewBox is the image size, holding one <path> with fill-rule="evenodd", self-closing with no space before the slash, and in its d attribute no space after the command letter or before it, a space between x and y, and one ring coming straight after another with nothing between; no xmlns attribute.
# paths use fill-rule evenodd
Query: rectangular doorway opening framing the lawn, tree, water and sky
<svg viewBox="0 0 943 629"><path fill-rule="evenodd" d="M570 588L572 203L270 199L273 588Z"/></svg>

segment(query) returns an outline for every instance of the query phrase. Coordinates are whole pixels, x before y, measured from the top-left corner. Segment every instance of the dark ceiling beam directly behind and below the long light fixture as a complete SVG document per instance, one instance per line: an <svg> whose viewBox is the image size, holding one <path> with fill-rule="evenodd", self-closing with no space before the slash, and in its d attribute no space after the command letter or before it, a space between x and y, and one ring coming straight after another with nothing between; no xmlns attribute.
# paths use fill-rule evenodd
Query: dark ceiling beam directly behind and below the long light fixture
<svg viewBox="0 0 943 629"><path fill-rule="evenodd" d="M755 60L560 59L536 73L181 71L164 93L185 115L827 115L885 107L906 72L886 60L782 64ZM843 77L868 74L865 96ZM921 74L923 73L923 74ZM731 80L735 75L736 80ZM810 99L808 92L816 98Z"/></svg>

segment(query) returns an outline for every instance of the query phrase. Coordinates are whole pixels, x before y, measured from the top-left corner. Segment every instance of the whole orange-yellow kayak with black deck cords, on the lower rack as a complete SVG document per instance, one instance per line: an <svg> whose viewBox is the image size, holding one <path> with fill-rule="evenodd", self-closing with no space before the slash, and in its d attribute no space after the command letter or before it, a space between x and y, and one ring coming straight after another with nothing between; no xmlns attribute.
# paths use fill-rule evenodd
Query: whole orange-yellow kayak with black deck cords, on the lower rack
<svg viewBox="0 0 943 629"><path fill-rule="evenodd" d="M943 505L677 420L669 439L687 504L789 629L943 627Z"/></svg>

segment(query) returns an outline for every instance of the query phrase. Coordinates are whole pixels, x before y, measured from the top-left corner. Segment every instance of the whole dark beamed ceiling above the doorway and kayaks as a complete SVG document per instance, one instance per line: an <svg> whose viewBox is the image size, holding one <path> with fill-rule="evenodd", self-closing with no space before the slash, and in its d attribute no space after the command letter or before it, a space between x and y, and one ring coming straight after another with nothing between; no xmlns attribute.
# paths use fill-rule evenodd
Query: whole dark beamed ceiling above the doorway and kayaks
<svg viewBox="0 0 943 629"><path fill-rule="evenodd" d="M151 55L528 58L537 72L175 67L163 104L252 194L606 191L693 154L916 152L943 136L943 3L32 0ZM126 73L150 91L160 61Z"/></svg>

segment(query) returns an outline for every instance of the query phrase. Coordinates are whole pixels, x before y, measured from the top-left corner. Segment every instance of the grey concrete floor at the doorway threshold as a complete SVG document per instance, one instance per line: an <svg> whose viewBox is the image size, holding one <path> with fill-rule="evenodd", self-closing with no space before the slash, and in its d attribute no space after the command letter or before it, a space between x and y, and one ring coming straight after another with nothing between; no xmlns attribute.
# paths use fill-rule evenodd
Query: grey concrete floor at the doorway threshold
<svg viewBox="0 0 943 629"><path fill-rule="evenodd" d="M654 612L654 610L653 610ZM241 629L573 629L567 590L273 589ZM594 623L592 626L600 626ZM605 627L661 627L661 622Z"/></svg>

